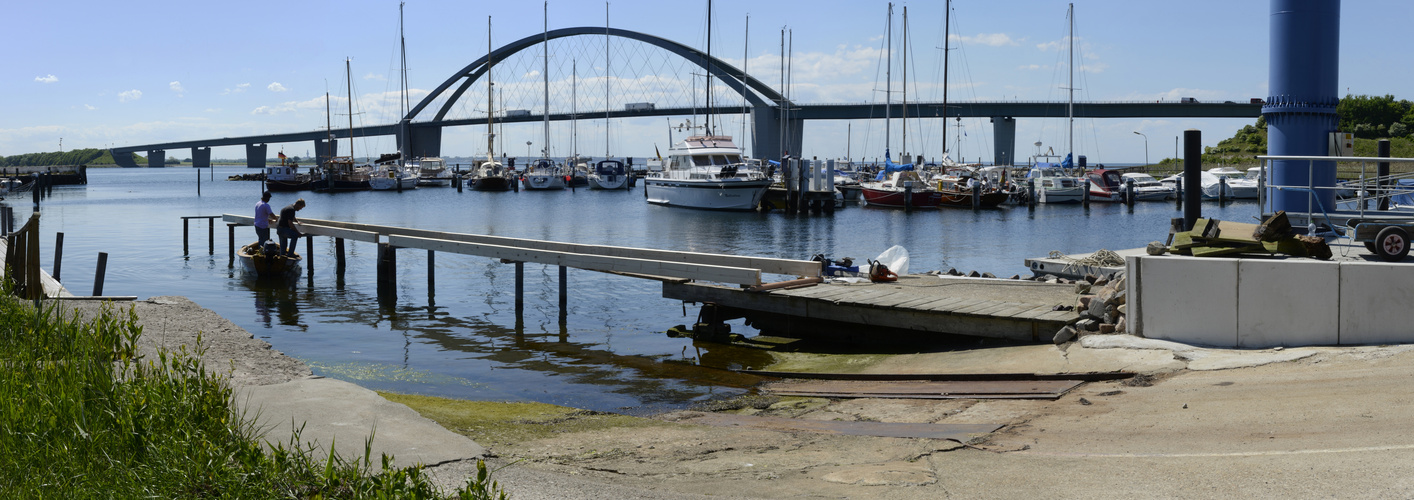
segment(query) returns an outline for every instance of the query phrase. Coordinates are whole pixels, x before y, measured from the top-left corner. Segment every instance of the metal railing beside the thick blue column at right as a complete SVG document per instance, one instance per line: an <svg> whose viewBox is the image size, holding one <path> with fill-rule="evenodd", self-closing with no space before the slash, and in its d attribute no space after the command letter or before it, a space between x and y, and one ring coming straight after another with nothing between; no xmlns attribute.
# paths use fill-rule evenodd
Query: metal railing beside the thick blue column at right
<svg viewBox="0 0 1414 500"><path fill-rule="evenodd" d="M1379 203L1381 199L1391 199L1401 194L1414 194L1414 189L1398 188L1400 179L1414 178L1414 174L1391 174L1391 175L1377 175L1373 169L1376 164L1414 164L1414 158L1381 158L1381 157L1297 157L1297 155L1258 155L1257 160L1261 162L1257 175L1257 203L1261 210L1261 218L1266 219L1273 210L1268 203L1271 202L1267 196L1267 188L1277 191L1301 191L1307 195L1307 215L1312 216L1314 209L1319 209L1329 216L1331 212L1338 212L1339 201L1333 203L1335 206L1319 206L1316 201L1316 192L1332 191L1339 194L1343 189L1355 189L1355 198L1348 198L1349 202L1355 203L1355 209L1350 212L1359 213L1365 218L1369 201ZM1307 185L1274 185L1267 182L1267 172L1271 171L1273 161L1305 161L1307 162ZM1316 186L1312 184L1316 162L1357 162L1360 164L1360 178L1357 181L1338 182L1333 186ZM1352 186L1353 185L1353 186ZM1339 196L1336 196L1339 198Z"/></svg>

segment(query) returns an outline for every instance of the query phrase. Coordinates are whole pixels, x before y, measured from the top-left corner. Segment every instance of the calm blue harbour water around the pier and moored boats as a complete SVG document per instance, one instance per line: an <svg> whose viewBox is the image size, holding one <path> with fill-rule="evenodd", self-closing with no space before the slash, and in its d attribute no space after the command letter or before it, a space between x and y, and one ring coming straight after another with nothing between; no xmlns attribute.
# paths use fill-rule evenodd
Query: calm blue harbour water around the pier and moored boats
<svg viewBox="0 0 1414 500"><path fill-rule="evenodd" d="M680 302L655 281L570 270L568 321L559 322L557 268L526 264L526 312L515 316L515 268L469 256L438 254L428 290L427 256L399 251L397 298L379 304L372 244L349 242L348 268L334 273L334 243L317 237L312 281L270 284L228 267L226 226L216 225L215 256L206 223L191 225L182 256L181 216L250 215L259 182L225 181L253 169L218 167L90 169L89 185L59 186L42 202L42 258L52 268L54 233L64 232L62 281L79 295L93 287L99 251L109 253L107 295L184 295L229 318L315 373L375 390L471 400L533 400L600 411L650 411L740 388L713 367L755 367L764 357L725 347L694 349L663 331L691 323ZM892 244L908 249L911 271L1027 274L1022 260L1052 250L1131 249L1168 234L1182 216L1174 203L1096 203L998 210L847 208L834 216L714 213L650 206L632 192L472 192L421 188L403 194L277 194L279 208L303 196L301 218L485 233L559 242L785 258L872 258ZM28 198L8 199L28 213ZM1253 202L1203 215L1253 220ZM238 244L255 239L238 229ZM301 243L300 251L304 251ZM751 333L740 323L737 332Z"/></svg>

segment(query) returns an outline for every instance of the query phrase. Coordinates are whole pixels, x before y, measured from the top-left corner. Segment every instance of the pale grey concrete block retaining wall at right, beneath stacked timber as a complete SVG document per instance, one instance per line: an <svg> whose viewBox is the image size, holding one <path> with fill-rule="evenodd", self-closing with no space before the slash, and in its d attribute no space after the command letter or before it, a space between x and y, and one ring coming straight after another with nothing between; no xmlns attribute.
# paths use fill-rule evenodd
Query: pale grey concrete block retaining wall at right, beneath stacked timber
<svg viewBox="0 0 1414 500"><path fill-rule="evenodd" d="M1414 266L1131 256L1128 332L1220 347L1414 342Z"/></svg>

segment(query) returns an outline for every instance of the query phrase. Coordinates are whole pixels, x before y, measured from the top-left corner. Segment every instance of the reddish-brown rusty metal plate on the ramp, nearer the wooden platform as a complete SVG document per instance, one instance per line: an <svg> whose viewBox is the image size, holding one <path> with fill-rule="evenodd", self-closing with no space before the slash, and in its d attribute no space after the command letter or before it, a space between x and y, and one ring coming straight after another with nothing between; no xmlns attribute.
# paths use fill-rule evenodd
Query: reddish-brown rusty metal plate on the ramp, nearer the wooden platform
<svg viewBox="0 0 1414 500"><path fill-rule="evenodd" d="M779 395L806 397L1055 400L1080 384L1080 380L793 380L762 388Z"/></svg>

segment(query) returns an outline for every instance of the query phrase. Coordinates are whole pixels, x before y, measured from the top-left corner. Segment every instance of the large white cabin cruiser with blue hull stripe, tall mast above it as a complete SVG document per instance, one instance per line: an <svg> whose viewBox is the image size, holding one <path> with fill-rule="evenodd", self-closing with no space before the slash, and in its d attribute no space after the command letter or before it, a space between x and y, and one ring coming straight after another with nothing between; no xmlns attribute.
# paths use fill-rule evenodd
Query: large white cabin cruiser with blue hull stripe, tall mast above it
<svg viewBox="0 0 1414 500"><path fill-rule="evenodd" d="M711 0L707 1L707 61L711 61ZM669 148L663 169L643 178L643 194L653 205L754 210L771 188L771 178L742 158L731 136L714 134L711 76L707 78L706 133L689 136Z"/></svg>

